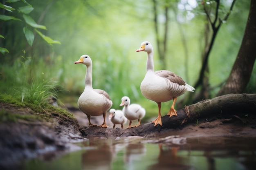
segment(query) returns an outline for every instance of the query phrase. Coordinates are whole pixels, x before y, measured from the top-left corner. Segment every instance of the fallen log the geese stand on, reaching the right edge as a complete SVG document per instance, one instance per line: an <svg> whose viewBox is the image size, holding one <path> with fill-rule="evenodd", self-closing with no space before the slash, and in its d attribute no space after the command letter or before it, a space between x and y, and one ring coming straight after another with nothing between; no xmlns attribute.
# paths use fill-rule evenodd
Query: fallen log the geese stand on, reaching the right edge
<svg viewBox="0 0 256 170"><path fill-rule="evenodd" d="M169 118L162 116L162 126L159 124L154 127L154 124L148 122L137 128L120 129L120 128L100 128L83 127L80 132L85 137L90 136L145 136L154 132L165 132L166 130L175 129L188 124L195 119L210 116L224 116L235 114L256 113L256 94L228 94L215 97L213 99L202 100L196 104L184 106L177 110L177 116Z"/></svg>

